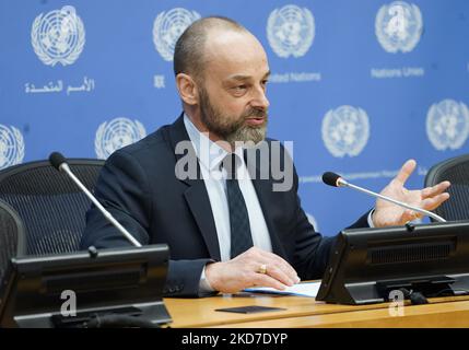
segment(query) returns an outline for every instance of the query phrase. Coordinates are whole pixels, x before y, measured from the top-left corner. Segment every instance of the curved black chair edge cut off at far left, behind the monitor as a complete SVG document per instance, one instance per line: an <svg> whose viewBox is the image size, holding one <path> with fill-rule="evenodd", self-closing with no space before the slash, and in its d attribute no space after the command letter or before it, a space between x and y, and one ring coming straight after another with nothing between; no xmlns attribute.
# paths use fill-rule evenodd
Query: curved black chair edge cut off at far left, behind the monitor
<svg viewBox="0 0 469 350"><path fill-rule="evenodd" d="M0 285L10 259L24 255L25 233L16 211L0 200Z"/></svg>

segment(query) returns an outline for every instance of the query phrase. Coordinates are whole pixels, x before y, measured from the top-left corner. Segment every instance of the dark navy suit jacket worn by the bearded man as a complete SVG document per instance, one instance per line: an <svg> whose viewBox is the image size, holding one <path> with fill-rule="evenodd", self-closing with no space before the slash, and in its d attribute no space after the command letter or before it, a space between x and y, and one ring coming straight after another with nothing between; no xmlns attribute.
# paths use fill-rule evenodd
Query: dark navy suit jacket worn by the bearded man
<svg viewBox="0 0 469 350"><path fill-rule="evenodd" d="M180 180L175 176L175 164L183 156L175 154L175 148L187 140L184 119L179 117L173 125L113 153L95 188L99 202L140 243L168 244L167 296L200 296L204 265L220 260L215 219L203 179L199 176ZM190 152L195 156L194 149ZM269 177L257 176L253 184L273 253L288 260L302 279L321 278L335 238L323 237L309 224L297 196L296 172L288 191L272 191L274 179ZM95 207L86 213L86 223L82 248L129 245ZM367 226L366 215L353 226Z"/></svg>

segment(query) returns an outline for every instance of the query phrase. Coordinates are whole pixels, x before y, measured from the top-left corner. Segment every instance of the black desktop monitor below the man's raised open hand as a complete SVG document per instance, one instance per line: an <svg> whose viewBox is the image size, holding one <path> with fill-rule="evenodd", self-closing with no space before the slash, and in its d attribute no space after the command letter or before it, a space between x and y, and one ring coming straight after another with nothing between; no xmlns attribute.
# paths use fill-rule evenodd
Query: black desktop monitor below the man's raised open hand
<svg viewBox="0 0 469 350"><path fill-rule="evenodd" d="M469 221L342 231L316 300L382 303L397 290L467 294Z"/></svg>

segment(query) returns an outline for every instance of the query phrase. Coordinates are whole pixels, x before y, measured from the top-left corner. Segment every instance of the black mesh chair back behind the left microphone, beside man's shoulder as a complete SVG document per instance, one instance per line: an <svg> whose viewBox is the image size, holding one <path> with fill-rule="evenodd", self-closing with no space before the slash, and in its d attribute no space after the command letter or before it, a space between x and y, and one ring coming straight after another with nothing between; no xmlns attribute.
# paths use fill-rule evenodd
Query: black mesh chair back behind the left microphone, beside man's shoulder
<svg viewBox="0 0 469 350"><path fill-rule="evenodd" d="M72 159L68 163L92 190L104 161ZM48 161L24 163L1 171L0 199L13 207L23 220L27 255L79 249L91 201Z"/></svg>

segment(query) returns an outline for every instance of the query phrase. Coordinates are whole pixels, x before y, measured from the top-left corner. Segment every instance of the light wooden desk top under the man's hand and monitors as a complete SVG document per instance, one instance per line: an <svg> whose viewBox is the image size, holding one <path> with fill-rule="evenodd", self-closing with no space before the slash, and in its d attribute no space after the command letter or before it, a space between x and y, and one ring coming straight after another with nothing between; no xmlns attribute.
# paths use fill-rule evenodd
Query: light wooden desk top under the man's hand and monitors
<svg viewBox="0 0 469 350"><path fill-rule="evenodd" d="M220 295L204 299L165 299L171 327L469 327L469 296L438 298L426 305L404 306L403 316L390 316L388 304L335 305L312 298L266 294ZM258 314L215 312L247 305L282 307Z"/></svg>

